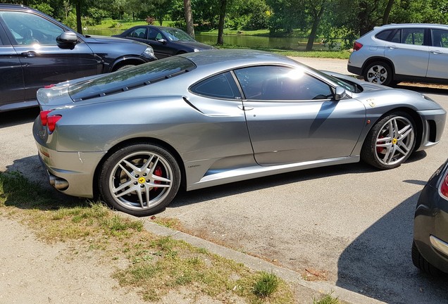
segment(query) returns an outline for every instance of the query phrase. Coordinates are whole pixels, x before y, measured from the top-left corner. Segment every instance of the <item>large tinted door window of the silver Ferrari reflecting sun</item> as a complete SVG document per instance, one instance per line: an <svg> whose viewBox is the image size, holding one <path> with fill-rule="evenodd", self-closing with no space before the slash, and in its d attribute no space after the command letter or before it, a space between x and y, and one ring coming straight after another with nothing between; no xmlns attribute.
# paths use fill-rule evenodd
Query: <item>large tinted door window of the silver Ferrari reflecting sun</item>
<svg viewBox="0 0 448 304"><path fill-rule="evenodd" d="M235 70L246 99L330 99L330 86L301 70L266 65Z"/></svg>

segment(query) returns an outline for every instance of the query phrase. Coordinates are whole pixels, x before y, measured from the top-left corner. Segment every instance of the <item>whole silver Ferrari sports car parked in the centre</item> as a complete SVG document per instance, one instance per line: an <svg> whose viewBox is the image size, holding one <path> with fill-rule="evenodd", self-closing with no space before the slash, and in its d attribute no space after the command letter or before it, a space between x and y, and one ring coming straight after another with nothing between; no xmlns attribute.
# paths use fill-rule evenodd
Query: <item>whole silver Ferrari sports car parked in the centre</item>
<svg viewBox="0 0 448 304"><path fill-rule="evenodd" d="M437 144L446 120L423 94L241 49L49 85L37 99L50 183L137 216L163 210L180 187L360 159L398 167Z"/></svg>

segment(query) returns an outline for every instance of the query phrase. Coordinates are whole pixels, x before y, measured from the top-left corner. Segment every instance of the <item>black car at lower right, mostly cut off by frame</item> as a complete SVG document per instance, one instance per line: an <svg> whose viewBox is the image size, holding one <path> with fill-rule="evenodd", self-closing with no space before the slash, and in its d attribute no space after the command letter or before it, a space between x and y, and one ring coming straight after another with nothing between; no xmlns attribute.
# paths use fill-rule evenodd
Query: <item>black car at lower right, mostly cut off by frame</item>
<svg viewBox="0 0 448 304"><path fill-rule="evenodd" d="M429 274L448 273L448 160L423 188L413 228L413 264Z"/></svg>

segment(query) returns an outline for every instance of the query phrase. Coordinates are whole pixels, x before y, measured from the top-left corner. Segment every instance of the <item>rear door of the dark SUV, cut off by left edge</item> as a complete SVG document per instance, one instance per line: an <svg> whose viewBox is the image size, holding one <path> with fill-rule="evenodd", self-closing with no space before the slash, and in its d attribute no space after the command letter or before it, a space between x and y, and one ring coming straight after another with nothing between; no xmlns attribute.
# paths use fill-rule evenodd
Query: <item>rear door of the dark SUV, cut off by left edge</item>
<svg viewBox="0 0 448 304"><path fill-rule="evenodd" d="M21 102L25 96L22 65L0 25L0 111Z"/></svg>

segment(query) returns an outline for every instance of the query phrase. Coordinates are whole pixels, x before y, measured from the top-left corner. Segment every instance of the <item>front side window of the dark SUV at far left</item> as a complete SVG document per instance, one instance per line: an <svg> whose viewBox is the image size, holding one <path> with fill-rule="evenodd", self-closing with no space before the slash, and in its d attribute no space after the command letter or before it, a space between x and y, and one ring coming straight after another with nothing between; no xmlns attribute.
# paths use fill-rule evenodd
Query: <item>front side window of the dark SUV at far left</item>
<svg viewBox="0 0 448 304"><path fill-rule="evenodd" d="M56 45L63 29L49 20L33 13L18 11L0 12L1 17L11 32L13 44Z"/></svg>

